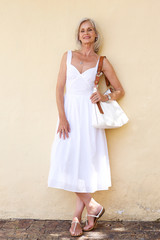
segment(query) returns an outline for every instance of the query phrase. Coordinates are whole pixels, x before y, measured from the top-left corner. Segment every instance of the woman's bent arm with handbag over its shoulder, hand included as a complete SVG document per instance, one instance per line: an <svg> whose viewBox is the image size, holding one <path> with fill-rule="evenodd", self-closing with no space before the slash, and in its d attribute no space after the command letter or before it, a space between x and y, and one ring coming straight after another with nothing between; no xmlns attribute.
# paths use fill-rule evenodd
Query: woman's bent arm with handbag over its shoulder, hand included
<svg viewBox="0 0 160 240"><path fill-rule="evenodd" d="M119 98L124 96L125 91L124 91L112 65L110 64L110 62L108 61L107 58L104 58L104 60L103 60L102 71L103 71L104 75L108 78L108 80L111 83L111 85L113 86L113 88L115 89L115 91L113 91L112 93L109 94L111 97L111 100L118 100ZM92 103L96 103L98 101L106 102L107 100L108 100L107 95L102 95L99 91L92 94L92 96L91 96Z"/></svg>

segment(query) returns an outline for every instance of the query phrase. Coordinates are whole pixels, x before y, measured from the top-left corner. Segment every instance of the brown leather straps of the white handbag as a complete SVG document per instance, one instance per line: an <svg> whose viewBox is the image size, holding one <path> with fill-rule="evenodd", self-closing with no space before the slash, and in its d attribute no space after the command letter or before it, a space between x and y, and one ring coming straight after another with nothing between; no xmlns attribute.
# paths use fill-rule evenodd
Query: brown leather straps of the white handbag
<svg viewBox="0 0 160 240"><path fill-rule="evenodd" d="M106 56L100 56L99 63L98 63L98 68L97 68L96 79L95 79L95 81L94 81L95 86L98 86L100 76L103 74L103 72L102 72L102 66L103 66L103 59L104 59L104 58L106 58ZM108 78L107 78L106 76L105 76L105 82L106 82L106 85L107 85L107 87L108 87L108 86L110 85L110 82L109 82L109 80L108 80ZM98 108L99 108L100 113L101 113L101 114L104 114L100 102L97 102L97 106L98 106Z"/></svg>

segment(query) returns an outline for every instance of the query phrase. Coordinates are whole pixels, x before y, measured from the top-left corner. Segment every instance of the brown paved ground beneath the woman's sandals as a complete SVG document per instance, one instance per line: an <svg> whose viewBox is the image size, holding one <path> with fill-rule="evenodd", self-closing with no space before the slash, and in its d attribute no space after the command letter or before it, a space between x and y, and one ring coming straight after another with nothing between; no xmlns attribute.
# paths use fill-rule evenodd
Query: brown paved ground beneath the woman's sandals
<svg viewBox="0 0 160 240"><path fill-rule="evenodd" d="M70 237L70 221L0 220L0 240L160 240L160 221L99 221L97 227L82 237Z"/></svg>

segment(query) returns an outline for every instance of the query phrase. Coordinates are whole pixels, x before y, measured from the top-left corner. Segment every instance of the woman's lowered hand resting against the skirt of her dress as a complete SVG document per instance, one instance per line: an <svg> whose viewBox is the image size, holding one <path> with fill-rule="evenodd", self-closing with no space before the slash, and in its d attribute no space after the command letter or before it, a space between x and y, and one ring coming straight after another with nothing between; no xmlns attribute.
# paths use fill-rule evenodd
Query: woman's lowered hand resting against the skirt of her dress
<svg viewBox="0 0 160 240"><path fill-rule="evenodd" d="M70 125L67 119L66 118L60 119L57 130L57 133L59 133L59 137L61 138L63 136L63 139L65 139L66 137L68 138L70 130L71 130Z"/></svg>

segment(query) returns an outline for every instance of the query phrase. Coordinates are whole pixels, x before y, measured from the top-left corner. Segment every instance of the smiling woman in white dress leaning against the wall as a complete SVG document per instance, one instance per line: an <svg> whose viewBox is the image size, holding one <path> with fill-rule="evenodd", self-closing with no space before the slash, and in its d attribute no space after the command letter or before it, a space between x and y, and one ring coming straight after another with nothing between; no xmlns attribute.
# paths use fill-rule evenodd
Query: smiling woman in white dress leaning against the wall
<svg viewBox="0 0 160 240"><path fill-rule="evenodd" d="M80 49L63 55L56 87L59 121L52 145L48 186L75 192L77 196L71 236L80 236L95 227L105 210L91 193L111 186L105 131L92 127L91 123L92 104L109 100L99 91L92 93L99 62L99 38L94 21L83 19L77 31ZM119 99L124 90L107 58L102 70L115 89L109 94L111 100ZM85 207L88 221L82 229L80 222Z"/></svg>

